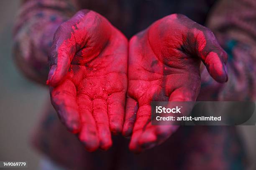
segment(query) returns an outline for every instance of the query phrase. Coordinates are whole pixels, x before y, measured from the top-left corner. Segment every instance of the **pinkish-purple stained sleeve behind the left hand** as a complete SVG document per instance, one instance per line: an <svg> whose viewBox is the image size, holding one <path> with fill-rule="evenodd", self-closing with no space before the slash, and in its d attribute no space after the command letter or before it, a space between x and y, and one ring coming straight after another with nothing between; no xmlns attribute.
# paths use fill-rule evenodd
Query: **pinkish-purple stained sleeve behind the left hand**
<svg viewBox="0 0 256 170"><path fill-rule="evenodd" d="M45 84L48 75L48 51L61 23L74 13L67 0L26 0L20 8L14 28L14 59L24 75Z"/></svg>

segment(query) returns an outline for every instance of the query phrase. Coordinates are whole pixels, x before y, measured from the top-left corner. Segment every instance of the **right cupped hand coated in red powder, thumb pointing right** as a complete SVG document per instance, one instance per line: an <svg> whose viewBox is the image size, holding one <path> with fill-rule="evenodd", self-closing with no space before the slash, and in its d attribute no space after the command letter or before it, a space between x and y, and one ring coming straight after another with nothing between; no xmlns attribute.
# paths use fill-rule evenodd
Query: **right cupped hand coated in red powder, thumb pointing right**
<svg viewBox="0 0 256 170"><path fill-rule="evenodd" d="M161 144L178 126L151 125L151 101L195 101L200 63L226 82L227 55L213 33L184 15L169 15L129 42L128 92L123 135L134 152Z"/></svg>

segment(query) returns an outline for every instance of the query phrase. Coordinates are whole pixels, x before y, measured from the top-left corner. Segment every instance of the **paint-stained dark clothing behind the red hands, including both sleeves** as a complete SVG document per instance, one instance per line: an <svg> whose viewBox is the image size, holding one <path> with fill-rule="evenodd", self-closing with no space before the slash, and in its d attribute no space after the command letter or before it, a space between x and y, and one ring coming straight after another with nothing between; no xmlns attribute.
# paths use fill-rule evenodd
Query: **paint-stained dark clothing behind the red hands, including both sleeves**
<svg viewBox="0 0 256 170"><path fill-rule="evenodd" d="M209 27L228 52L229 81L215 82L202 71L198 100L255 100L256 4L253 0L223 0L215 6ZM15 56L25 75L44 83L48 73L47 52L60 23L79 8L105 16L127 37L171 13L183 13L205 23L214 0L31 0L20 10L14 40ZM222 3L222 4L221 4ZM184 4L184 6L182 6ZM78 8L79 7L79 8ZM254 52L254 53L253 53ZM233 127L180 127L165 143L134 155L128 139L113 137L107 152L88 153L76 136L67 132L50 103L33 137L38 150L56 163L78 169L244 169L246 154Z"/></svg>

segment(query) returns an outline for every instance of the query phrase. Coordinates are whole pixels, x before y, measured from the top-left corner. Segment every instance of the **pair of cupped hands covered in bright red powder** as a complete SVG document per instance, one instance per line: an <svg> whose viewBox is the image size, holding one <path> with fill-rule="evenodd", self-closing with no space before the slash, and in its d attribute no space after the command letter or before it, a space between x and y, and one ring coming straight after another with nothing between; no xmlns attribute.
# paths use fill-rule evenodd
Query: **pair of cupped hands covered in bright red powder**
<svg viewBox="0 0 256 170"><path fill-rule="evenodd" d="M111 132L131 136L137 153L169 138L178 127L151 125L150 102L195 101L201 61L216 81L228 80L227 55L213 33L176 14L128 45L107 19L81 10L54 34L49 61L51 102L89 151L110 148Z"/></svg>

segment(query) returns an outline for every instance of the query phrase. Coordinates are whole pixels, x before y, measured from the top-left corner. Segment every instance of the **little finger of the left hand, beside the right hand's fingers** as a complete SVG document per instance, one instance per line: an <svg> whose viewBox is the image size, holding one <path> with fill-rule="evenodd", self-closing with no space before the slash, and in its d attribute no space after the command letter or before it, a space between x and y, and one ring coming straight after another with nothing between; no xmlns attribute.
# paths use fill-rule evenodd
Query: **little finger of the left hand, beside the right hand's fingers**
<svg viewBox="0 0 256 170"><path fill-rule="evenodd" d="M123 129L125 93L113 93L108 97L107 103L110 130L114 134L120 133Z"/></svg>

